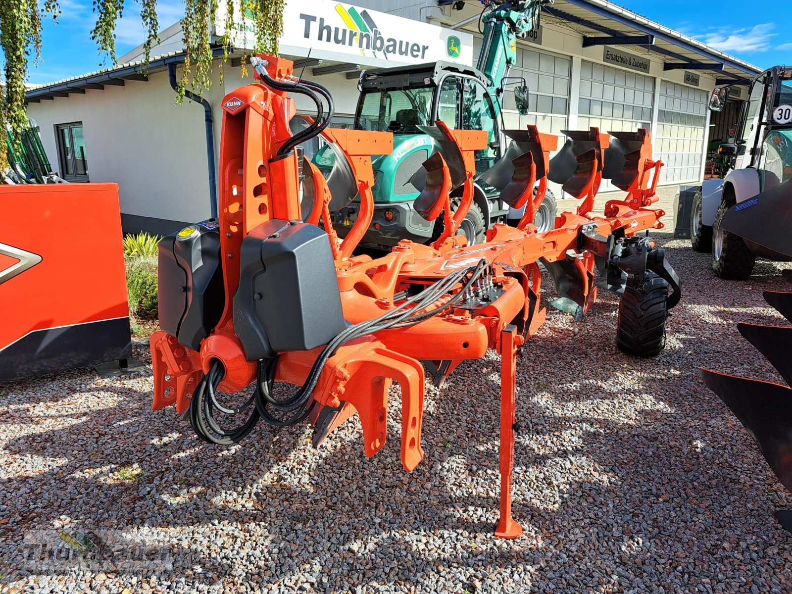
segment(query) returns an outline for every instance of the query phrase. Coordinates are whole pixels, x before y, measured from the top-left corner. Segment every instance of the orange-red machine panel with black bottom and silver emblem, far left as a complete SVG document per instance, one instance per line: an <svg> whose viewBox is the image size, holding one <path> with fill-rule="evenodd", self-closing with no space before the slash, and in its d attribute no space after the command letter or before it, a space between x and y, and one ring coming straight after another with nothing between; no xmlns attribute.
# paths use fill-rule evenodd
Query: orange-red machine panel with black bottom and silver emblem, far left
<svg viewBox="0 0 792 594"><path fill-rule="evenodd" d="M0 381L131 356L118 185L4 185L0 212Z"/></svg>

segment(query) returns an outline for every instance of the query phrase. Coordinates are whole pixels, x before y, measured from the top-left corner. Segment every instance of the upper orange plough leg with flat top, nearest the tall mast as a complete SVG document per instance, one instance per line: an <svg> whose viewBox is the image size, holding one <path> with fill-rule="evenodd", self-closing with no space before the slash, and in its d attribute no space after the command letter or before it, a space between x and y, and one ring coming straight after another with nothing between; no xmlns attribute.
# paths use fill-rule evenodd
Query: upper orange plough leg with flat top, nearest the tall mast
<svg viewBox="0 0 792 594"><path fill-rule="evenodd" d="M352 257L360 240L371 225L374 218L374 169L371 168L372 154L390 154L394 150L394 135L390 132L370 132L367 130L347 130L344 128L326 128L324 135L338 145L345 154L352 173L357 180L360 192L360 211L355 224L341 242L341 259Z"/></svg>

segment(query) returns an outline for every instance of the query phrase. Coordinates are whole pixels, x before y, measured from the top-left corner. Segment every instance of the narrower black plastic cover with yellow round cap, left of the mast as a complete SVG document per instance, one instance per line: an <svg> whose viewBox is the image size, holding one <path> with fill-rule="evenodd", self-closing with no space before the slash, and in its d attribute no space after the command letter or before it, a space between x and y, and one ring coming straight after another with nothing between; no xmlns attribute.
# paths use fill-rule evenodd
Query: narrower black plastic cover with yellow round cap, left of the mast
<svg viewBox="0 0 792 594"><path fill-rule="evenodd" d="M159 326L200 349L226 305L218 223L189 225L159 242Z"/></svg>

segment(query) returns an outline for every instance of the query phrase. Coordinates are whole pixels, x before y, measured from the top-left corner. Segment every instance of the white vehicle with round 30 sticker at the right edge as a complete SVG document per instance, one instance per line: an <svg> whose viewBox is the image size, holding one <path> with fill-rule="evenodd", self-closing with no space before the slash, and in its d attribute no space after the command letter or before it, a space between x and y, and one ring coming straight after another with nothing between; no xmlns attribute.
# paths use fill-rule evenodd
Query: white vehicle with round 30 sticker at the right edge
<svg viewBox="0 0 792 594"><path fill-rule="evenodd" d="M729 86L714 89L710 111L722 112L728 98ZM733 158L733 170L722 180L705 180L696 192L691 245L712 252L716 276L744 280L751 276L756 257L789 260L773 246L780 239L776 234L790 232L788 223L777 223L792 213L792 67L775 66L753 78L735 129L735 142L718 147ZM776 195L786 200L775 200ZM770 203L772 210L767 208ZM763 217L750 217L750 226L747 218L741 223L741 213L755 208ZM726 225L729 212L733 222Z"/></svg>

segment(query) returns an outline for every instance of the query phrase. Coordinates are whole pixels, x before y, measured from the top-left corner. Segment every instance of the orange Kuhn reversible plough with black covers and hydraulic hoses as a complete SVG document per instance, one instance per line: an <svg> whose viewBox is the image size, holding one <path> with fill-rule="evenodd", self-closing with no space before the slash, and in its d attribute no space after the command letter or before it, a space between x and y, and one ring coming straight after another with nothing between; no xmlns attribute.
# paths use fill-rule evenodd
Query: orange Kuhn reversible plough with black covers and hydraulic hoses
<svg viewBox="0 0 792 594"><path fill-rule="evenodd" d="M639 132L638 145L616 147L596 129L586 132L600 150L574 154L571 147L571 161L563 165L584 203L576 213L562 213L556 228L538 233L532 217L558 139L535 128L505 131L515 144L497 164L498 189L508 204L530 208L518 227L496 224L484 243L467 246L456 230L470 208L474 151L486 135L437 122L427 130L440 151L413 184L421 191L418 214L442 216L444 233L431 246L405 240L383 257L356 255L373 212L371 155L389 153L392 135L328 128L333 113L325 109L331 102L322 101L329 98L326 89L295 78L287 60L261 55L252 63L257 82L224 101L219 219L160 244L162 331L151 337L154 409L175 404L187 410L196 434L214 444L237 443L262 420L310 422L318 446L357 414L365 454L372 456L386 443L388 387L395 381L402 388L402 464L409 471L424 456L425 374L442 386L460 364L495 349L502 361L495 533L519 536L511 508L516 356L545 320L540 263L553 272L560 295L554 304L579 317L596 296L595 269L600 286L617 293L640 296L647 284L666 283L664 313L680 298L679 279L662 249L638 237L663 226L664 213L646 208L657 180L655 173L649 185L647 172L660 167L649 158L648 133ZM295 135L290 93L307 95L318 111ZM327 179L301 161L300 144L320 134L336 154ZM609 151L623 157L611 169ZM592 216L596 186L611 170L628 196L611 205L610 216ZM460 187L462 199L452 202ZM331 211L356 196L360 214L340 242ZM276 383L295 389L278 396ZM220 402L243 390L252 395L242 405ZM235 414L245 421L228 427Z"/></svg>

